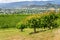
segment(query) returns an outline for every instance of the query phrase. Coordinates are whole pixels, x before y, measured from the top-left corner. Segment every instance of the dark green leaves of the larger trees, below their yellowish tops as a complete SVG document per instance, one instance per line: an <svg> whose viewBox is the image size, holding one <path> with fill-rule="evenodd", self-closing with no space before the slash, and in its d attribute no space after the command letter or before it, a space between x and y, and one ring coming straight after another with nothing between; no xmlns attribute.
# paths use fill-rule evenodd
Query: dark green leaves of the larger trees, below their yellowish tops
<svg viewBox="0 0 60 40"><path fill-rule="evenodd" d="M49 15L44 15L40 18L32 18L28 20L28 24L31 28L36 27L36 28L55 28L57 27L57 23L54 22L58 16L56 14L49 14Z"/></svg>

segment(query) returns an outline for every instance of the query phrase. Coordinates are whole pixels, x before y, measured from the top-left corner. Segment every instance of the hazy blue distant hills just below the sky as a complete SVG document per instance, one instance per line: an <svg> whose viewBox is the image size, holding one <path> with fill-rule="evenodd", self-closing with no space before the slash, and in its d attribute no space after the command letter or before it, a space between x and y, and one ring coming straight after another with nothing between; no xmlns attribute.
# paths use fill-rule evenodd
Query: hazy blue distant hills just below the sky
<svg viewBox="0 0 60 40"><path fill-rule="evenodd" d="M13 2L13 3L0 3L0 8L46 7L49 3L53 6L56 6L55 4L57 4L57 6L59 5L54 1L22 1L22 2Z"/></svg>

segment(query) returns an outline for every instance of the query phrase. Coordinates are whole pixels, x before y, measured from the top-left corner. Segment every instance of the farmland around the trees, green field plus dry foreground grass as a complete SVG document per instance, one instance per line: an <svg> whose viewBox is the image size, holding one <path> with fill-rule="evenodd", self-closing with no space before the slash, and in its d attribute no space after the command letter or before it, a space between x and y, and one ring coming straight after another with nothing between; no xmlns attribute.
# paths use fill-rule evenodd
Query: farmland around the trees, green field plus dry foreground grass
<svg viewBox="0 0 60 40"><path fill-rule="evenodd" d="M0 40L59 40L60 27L48 30L37 28L38 33L33 33L33 28L25 28L23 32L16 28L19 22L30 15L0 15ZM60 14L56 20L60 26ZM45 30L45 31L44 31Z"/></svg>

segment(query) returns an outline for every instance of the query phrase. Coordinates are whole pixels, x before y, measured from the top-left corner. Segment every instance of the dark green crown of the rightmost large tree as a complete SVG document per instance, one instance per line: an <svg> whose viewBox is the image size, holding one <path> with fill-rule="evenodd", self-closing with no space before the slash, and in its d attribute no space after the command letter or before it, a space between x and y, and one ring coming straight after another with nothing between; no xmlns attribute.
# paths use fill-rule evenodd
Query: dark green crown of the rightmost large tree
<svg viewBox="0 0 60 40"><path fill-rule="evenodd" d="M41 20L43 22L44 28L48 27L49 29L58 27L57 23L54 22L58 16L56 14L49 14L44 16Z"/></svg>

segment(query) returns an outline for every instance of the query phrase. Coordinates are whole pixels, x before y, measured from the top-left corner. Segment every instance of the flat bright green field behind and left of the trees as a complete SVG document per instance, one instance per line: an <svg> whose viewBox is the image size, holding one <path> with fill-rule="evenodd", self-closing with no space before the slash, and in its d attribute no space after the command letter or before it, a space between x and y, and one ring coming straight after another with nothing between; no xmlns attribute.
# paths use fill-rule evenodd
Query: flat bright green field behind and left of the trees
<svg viewBox="0 0 60 40"><path fill-rule="evenodd" d="M22 21L27 15L11 14L0 15L0 28L16 28L16 24Z"/></svg>

